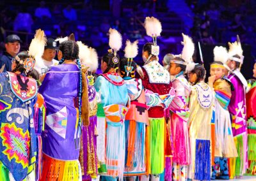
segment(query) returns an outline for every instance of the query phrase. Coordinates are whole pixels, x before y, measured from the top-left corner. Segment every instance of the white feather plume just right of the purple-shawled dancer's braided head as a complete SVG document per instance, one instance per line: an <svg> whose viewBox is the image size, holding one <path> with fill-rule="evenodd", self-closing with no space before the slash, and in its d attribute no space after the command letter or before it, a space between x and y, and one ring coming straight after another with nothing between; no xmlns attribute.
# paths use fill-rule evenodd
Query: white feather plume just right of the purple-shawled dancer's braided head
<svg viewBox="0 0 256 181"><path fill-rule="evenodd" d="M98 55L95 49L84 45L81 41L76 42L79 47L79 59L81 64L88 67L88 71L96 71L99 67Z"/></svg>

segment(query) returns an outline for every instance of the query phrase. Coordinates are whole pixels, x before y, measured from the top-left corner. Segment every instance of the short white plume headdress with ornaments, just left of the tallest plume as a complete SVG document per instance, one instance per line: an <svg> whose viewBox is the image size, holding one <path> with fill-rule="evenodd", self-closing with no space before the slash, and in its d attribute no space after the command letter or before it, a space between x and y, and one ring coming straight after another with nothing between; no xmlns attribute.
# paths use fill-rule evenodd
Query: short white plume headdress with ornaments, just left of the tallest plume
<svg viewBox="0 0 256 181"><path fill-rule="evenodd" d="M125 52L125 54L124 54L125 58L128 59L127 66L125 66L125 72L127 73L127 76L128 76L129 73L131 73L131 71L132 71L131 65L132 65L133 58L138 55L138 40L134 41L133 43L131 43L131 41L127 40L124 52ZM136 62L134 62L134 63L136 65L136 71L140 74L141 78L144 78L143 71L142 71L141 67L138 66L138 64L136 64Z"/></svg>

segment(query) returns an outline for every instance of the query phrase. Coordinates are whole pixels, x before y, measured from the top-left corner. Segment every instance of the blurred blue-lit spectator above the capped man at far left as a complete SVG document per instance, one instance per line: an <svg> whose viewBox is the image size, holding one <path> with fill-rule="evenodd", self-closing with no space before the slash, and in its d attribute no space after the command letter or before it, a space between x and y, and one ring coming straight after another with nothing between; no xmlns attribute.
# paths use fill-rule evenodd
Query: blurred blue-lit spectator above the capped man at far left
<svg viewBox="0 0 256 181"><path fill-rule="evenodd" d="M26 31L31 32L31 25L33 24L33 19L29 13L27 13L26 8L22 7L20 13L13 22L14 31Z"/></svg>

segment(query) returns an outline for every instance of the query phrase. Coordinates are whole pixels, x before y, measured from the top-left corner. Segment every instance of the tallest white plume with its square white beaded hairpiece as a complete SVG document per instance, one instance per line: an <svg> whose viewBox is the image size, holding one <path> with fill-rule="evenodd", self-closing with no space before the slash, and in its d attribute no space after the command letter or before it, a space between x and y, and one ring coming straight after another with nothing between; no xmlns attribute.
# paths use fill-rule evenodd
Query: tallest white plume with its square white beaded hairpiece
<svg viewBox="0 0 256 181"><path fill-rule="evenodd" d="M157 37L160 36L162 32L161 22L154 17L145 18L145 29L148 36L151 36L153 39L153 46L151 47L152 55L159 55L159 46L157 46Z"/></svg>

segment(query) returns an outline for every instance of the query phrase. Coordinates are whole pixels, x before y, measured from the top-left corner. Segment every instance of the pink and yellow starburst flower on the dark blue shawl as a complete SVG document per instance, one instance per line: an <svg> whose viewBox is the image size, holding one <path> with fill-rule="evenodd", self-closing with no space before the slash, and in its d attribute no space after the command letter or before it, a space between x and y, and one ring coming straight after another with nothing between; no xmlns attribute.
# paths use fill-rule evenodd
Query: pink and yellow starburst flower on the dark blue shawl
<svg viewBox="0 0 256 181"><path fill-rule="evenodd" d="M3 139L3 146L6 147L3 154L8 157L9 161L15 159L15 162L22 164L23 168L28 167L29 131L23 133L22 129L16 127L14 122L12 124L2 123L0 137Z"/></svg>

